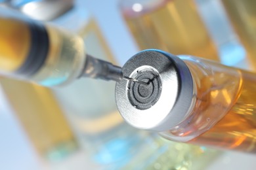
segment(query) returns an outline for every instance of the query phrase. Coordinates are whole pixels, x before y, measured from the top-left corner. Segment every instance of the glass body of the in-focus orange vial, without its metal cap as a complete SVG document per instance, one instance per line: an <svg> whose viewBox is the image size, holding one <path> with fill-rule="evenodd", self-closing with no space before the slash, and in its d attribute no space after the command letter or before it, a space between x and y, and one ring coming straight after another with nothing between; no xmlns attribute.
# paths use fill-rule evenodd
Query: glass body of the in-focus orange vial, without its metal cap
<svg viewBox="0 0 256 170"><path fill-rule="evenodd" d="M177 141L255 152L255 74L203 59L184 61L196 85L196 103L184 122L161 134Z"/></svg>

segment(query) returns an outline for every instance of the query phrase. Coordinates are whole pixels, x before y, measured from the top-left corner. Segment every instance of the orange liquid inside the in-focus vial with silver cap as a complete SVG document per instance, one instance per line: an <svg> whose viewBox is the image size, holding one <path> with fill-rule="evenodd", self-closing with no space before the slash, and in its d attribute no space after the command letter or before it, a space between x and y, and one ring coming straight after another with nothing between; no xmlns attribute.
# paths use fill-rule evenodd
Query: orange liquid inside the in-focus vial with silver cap
<svg viewBox="0 0 256 170"><path fill-rule="evenodd" d="M230 111L217 124L189 143L256 152L256 76L242 71L240 84L238 96ZM226 90L221 89L217 93L223 94L223 103L230 103L230 95L224 91Z"/></svg>

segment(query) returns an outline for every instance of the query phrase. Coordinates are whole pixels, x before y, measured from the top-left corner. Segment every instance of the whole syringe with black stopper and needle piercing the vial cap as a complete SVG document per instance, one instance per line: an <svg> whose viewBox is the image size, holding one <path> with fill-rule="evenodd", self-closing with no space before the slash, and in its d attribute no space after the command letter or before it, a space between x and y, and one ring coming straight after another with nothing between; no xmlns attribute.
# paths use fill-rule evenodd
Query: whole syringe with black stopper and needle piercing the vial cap
<svg viewBox="0 0 256 170"><path fill-rule="evenodd" d="M83 39L52 25L0 16L0 73L58 86L87 76L119 81L121 67L93 58Z"/></svg>

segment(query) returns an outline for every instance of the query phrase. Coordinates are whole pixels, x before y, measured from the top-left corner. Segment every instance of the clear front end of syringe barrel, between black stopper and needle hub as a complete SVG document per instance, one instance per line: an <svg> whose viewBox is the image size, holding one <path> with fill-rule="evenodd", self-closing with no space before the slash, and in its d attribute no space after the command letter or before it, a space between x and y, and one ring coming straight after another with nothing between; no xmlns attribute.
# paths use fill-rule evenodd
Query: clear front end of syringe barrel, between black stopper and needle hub
<svg viewBox="0 0 256 170"><path fill-rule="evenodd" d="M31 80L43 86L58 86L73 82L85 63L83 40L72 33L47 27L50 49L47 59Z"/></svg>

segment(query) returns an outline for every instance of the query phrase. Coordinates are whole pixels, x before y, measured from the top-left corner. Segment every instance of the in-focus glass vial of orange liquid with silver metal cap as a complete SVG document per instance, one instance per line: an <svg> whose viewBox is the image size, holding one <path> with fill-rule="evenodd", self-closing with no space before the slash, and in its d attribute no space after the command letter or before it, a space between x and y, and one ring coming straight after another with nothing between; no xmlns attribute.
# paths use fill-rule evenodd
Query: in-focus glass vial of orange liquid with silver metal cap
<svg viewBox="0 0 256 170"><path fill-rule="evenodd" d="M160 50L136 54L123 73L148 82L117 82L117 107L131 126L173 141L256 152L255 74Z"/></svg>

